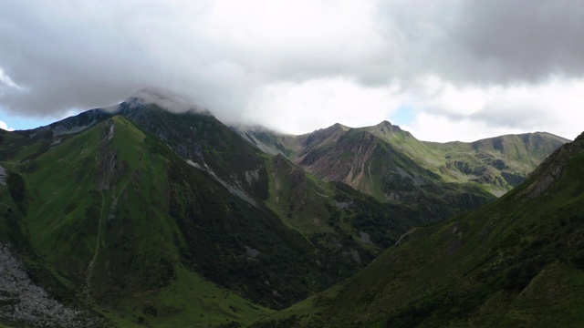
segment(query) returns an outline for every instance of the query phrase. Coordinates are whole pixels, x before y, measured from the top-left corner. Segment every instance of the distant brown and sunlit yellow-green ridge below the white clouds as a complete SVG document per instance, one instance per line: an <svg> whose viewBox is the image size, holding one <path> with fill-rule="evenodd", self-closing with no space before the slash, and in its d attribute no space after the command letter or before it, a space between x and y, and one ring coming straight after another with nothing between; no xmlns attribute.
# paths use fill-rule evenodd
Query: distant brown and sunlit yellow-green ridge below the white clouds
<svg viewBox="0 0 584 328"><path fill-rule="evenodd" d="M500 197L525 179L527 173L535 169L553 150L568 141L546 133L534 133L487 138L473 143L435 143L420 141L399 127L384 123L343 131L331 127L308 135L282 137L280 141L287 149L294 150L297 155L289 158L297 162L306 159L301 158L305 155L318 158L321 163L334 162L336 159L349 162L355 156L362 157L358 150L360 148L351 148L351 144L363 146L363 139L367 139L367 135L375 136L381 148L384 148L376 158L365 159L375 162L367 164L370 168L367 179L355 182L344 180L344 177L335 179L343 180L382 201L386 200L388 190L402 191L396 189L392 181L385 180L390 174L387 170L394 167L433 182L459 184L464 192L470 191L465 187L478 181L484 186L483 190ZM306 140L311 142L305 145ZM312 163L300 164L318 178L330 179L326 169L315 169ZM349 174L349 169L345 168L341 172L339 168L334 169L335 173ZM432 172L435 177L428 177L428 172ZM436 194L440 195L441 192Z"/></svg>

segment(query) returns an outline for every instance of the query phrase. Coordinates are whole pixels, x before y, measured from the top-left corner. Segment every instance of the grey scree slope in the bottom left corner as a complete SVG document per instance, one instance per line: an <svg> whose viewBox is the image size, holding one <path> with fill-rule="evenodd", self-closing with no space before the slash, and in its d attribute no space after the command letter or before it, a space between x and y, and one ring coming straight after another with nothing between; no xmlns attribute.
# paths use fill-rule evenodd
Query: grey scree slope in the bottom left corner
<svg viewBox="0 0 584 328"><path fill-rule="evenodd" d="M23 263L0 244L0 321L32 327L99 326L86 313L69 309L30 280Z"/></svg>

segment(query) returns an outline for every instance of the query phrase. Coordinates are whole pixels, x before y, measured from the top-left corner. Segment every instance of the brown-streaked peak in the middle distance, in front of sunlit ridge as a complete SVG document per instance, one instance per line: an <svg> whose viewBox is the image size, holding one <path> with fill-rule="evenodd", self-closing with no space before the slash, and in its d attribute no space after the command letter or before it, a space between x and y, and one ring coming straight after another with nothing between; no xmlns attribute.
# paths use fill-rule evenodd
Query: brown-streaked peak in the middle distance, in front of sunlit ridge
<svg viewBox="0 0 584 328"><path fill-rule="evenodd" d="M479 183L445 180L408 152L363 129L335 125L294 142L291 158L303 169L410 208L409 218L417 222L444 219L495 200Z"/></svg>

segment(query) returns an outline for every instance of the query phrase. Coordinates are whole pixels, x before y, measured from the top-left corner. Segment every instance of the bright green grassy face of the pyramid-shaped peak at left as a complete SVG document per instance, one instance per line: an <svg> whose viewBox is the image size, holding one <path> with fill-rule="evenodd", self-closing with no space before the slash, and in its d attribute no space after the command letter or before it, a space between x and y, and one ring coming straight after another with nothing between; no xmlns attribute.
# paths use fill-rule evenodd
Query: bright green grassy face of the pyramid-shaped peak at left
<svg viewBox="0 0 584 328"><path fill-rule="evenodd" d="M111 125L115 137L104 142ZM140 325L140 317L157 326L248 324L269 313L185 269L179 255L183 231L168 217L165 197L172 188L166 180L169 160L176 155L146 141L140 129L116 117L36 156L36 169L25 174L26 226L33 248L44 258L41 265L60 288L80 291L99 242L91 281L96 302L89 304L120 326ZM3 166L22 168L12 163ZM183 163L185 168L190 167ZM100 186L105 189L99 191ZM171 266L170 278L161 276L162 264ZM147 302L160 313L144 313L138 305Z"/></svg>

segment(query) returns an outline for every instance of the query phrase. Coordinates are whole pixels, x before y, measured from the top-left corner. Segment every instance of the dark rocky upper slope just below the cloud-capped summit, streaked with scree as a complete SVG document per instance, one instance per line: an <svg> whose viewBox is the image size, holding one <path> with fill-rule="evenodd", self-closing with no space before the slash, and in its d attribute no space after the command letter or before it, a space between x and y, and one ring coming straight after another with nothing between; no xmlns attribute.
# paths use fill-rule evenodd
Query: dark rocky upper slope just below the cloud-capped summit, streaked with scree
<svg viewBox="0 0 584 328"><path fill-rule="evenodd" d="M206 169L230 188L266 200L264 153L209 114L171 113L137 100L120 104L118 114L169 145L183 159Z"/></svg>

